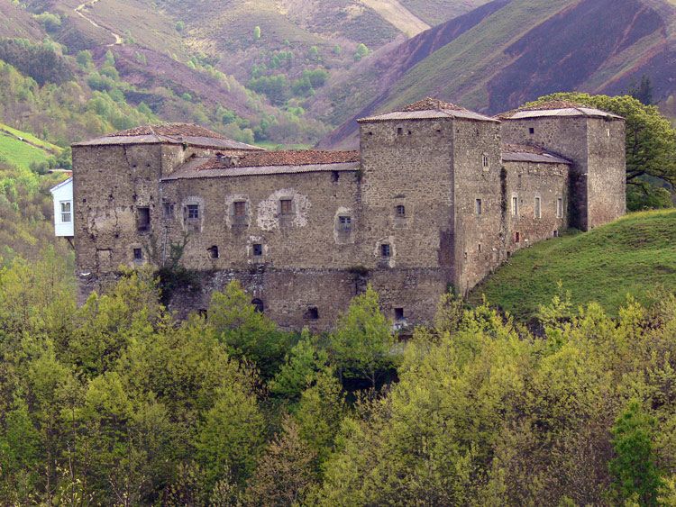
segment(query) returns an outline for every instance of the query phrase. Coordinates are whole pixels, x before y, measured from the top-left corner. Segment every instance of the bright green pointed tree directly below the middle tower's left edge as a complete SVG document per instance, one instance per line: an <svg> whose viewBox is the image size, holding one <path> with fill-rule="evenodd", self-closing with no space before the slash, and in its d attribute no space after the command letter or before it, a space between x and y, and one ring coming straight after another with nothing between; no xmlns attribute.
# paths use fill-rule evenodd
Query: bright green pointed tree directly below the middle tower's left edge
<svg viewBox="0 0 676 507"><path fill-rule="evenodd" d="M394 365L391 322L380 312L378 293L369 285L355 296L330 337L331 355L342 376L365 378L375 389Z"/></svg>

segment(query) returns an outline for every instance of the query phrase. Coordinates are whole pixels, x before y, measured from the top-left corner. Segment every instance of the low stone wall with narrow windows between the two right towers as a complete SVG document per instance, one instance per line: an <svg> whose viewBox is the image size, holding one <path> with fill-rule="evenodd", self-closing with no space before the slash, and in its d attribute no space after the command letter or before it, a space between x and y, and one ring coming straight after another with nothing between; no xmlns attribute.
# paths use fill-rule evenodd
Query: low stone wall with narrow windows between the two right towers
<svg viewBox="0 0 676 507"><path fill-rule="evenodd" d="M566 164L503 162L507 173L507 252L548 240L568 228ZM516 208L514 199L516 198ZM540 216L535 216L535 198ZM561 204L558 200L561 199Z"/></svg>

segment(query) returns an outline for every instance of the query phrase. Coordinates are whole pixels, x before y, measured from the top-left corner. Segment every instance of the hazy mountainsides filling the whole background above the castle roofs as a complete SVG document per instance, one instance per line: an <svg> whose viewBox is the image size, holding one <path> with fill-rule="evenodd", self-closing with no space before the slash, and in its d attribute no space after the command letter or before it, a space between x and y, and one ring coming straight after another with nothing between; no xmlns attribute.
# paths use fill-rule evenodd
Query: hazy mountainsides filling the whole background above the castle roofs
<svg viewBox="0 0 676 507"><path fill-rule="evenodd" d="M32 0L0 16L0 37L71 59L83 98L88 86L262 144L353 144L355 118L425 95L497 113L554 91L626 93L645 76L674 107L666 0Z"/></svg>

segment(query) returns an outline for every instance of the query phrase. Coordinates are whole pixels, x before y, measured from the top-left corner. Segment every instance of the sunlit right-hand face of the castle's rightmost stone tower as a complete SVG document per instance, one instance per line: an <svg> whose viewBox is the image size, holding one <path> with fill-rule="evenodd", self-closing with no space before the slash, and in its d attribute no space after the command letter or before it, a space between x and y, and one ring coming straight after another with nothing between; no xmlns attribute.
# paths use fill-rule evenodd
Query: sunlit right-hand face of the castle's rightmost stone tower
<svg viewBox="0 0 676 507"><path fill-rule="evenodd" d="M588 229L626 213L625 122L588 120Z"/></svg>

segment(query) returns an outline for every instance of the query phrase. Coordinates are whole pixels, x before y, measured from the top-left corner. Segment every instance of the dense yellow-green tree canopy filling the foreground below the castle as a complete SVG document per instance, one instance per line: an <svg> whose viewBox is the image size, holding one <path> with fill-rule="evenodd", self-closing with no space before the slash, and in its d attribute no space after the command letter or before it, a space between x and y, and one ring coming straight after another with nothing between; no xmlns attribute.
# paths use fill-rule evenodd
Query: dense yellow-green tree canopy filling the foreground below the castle
<svg viewBox="0 0 676 507"><path fill-rule="evenodd" d="M236 284L208 318L173 321L147 270L77 308L68 273L50 251L0 270L3 504L676 497L673 294L616 320L594 303L571 318L562 295L542 337L449 295L403 346L372 289L313 336L278 330Z"/></svg>

